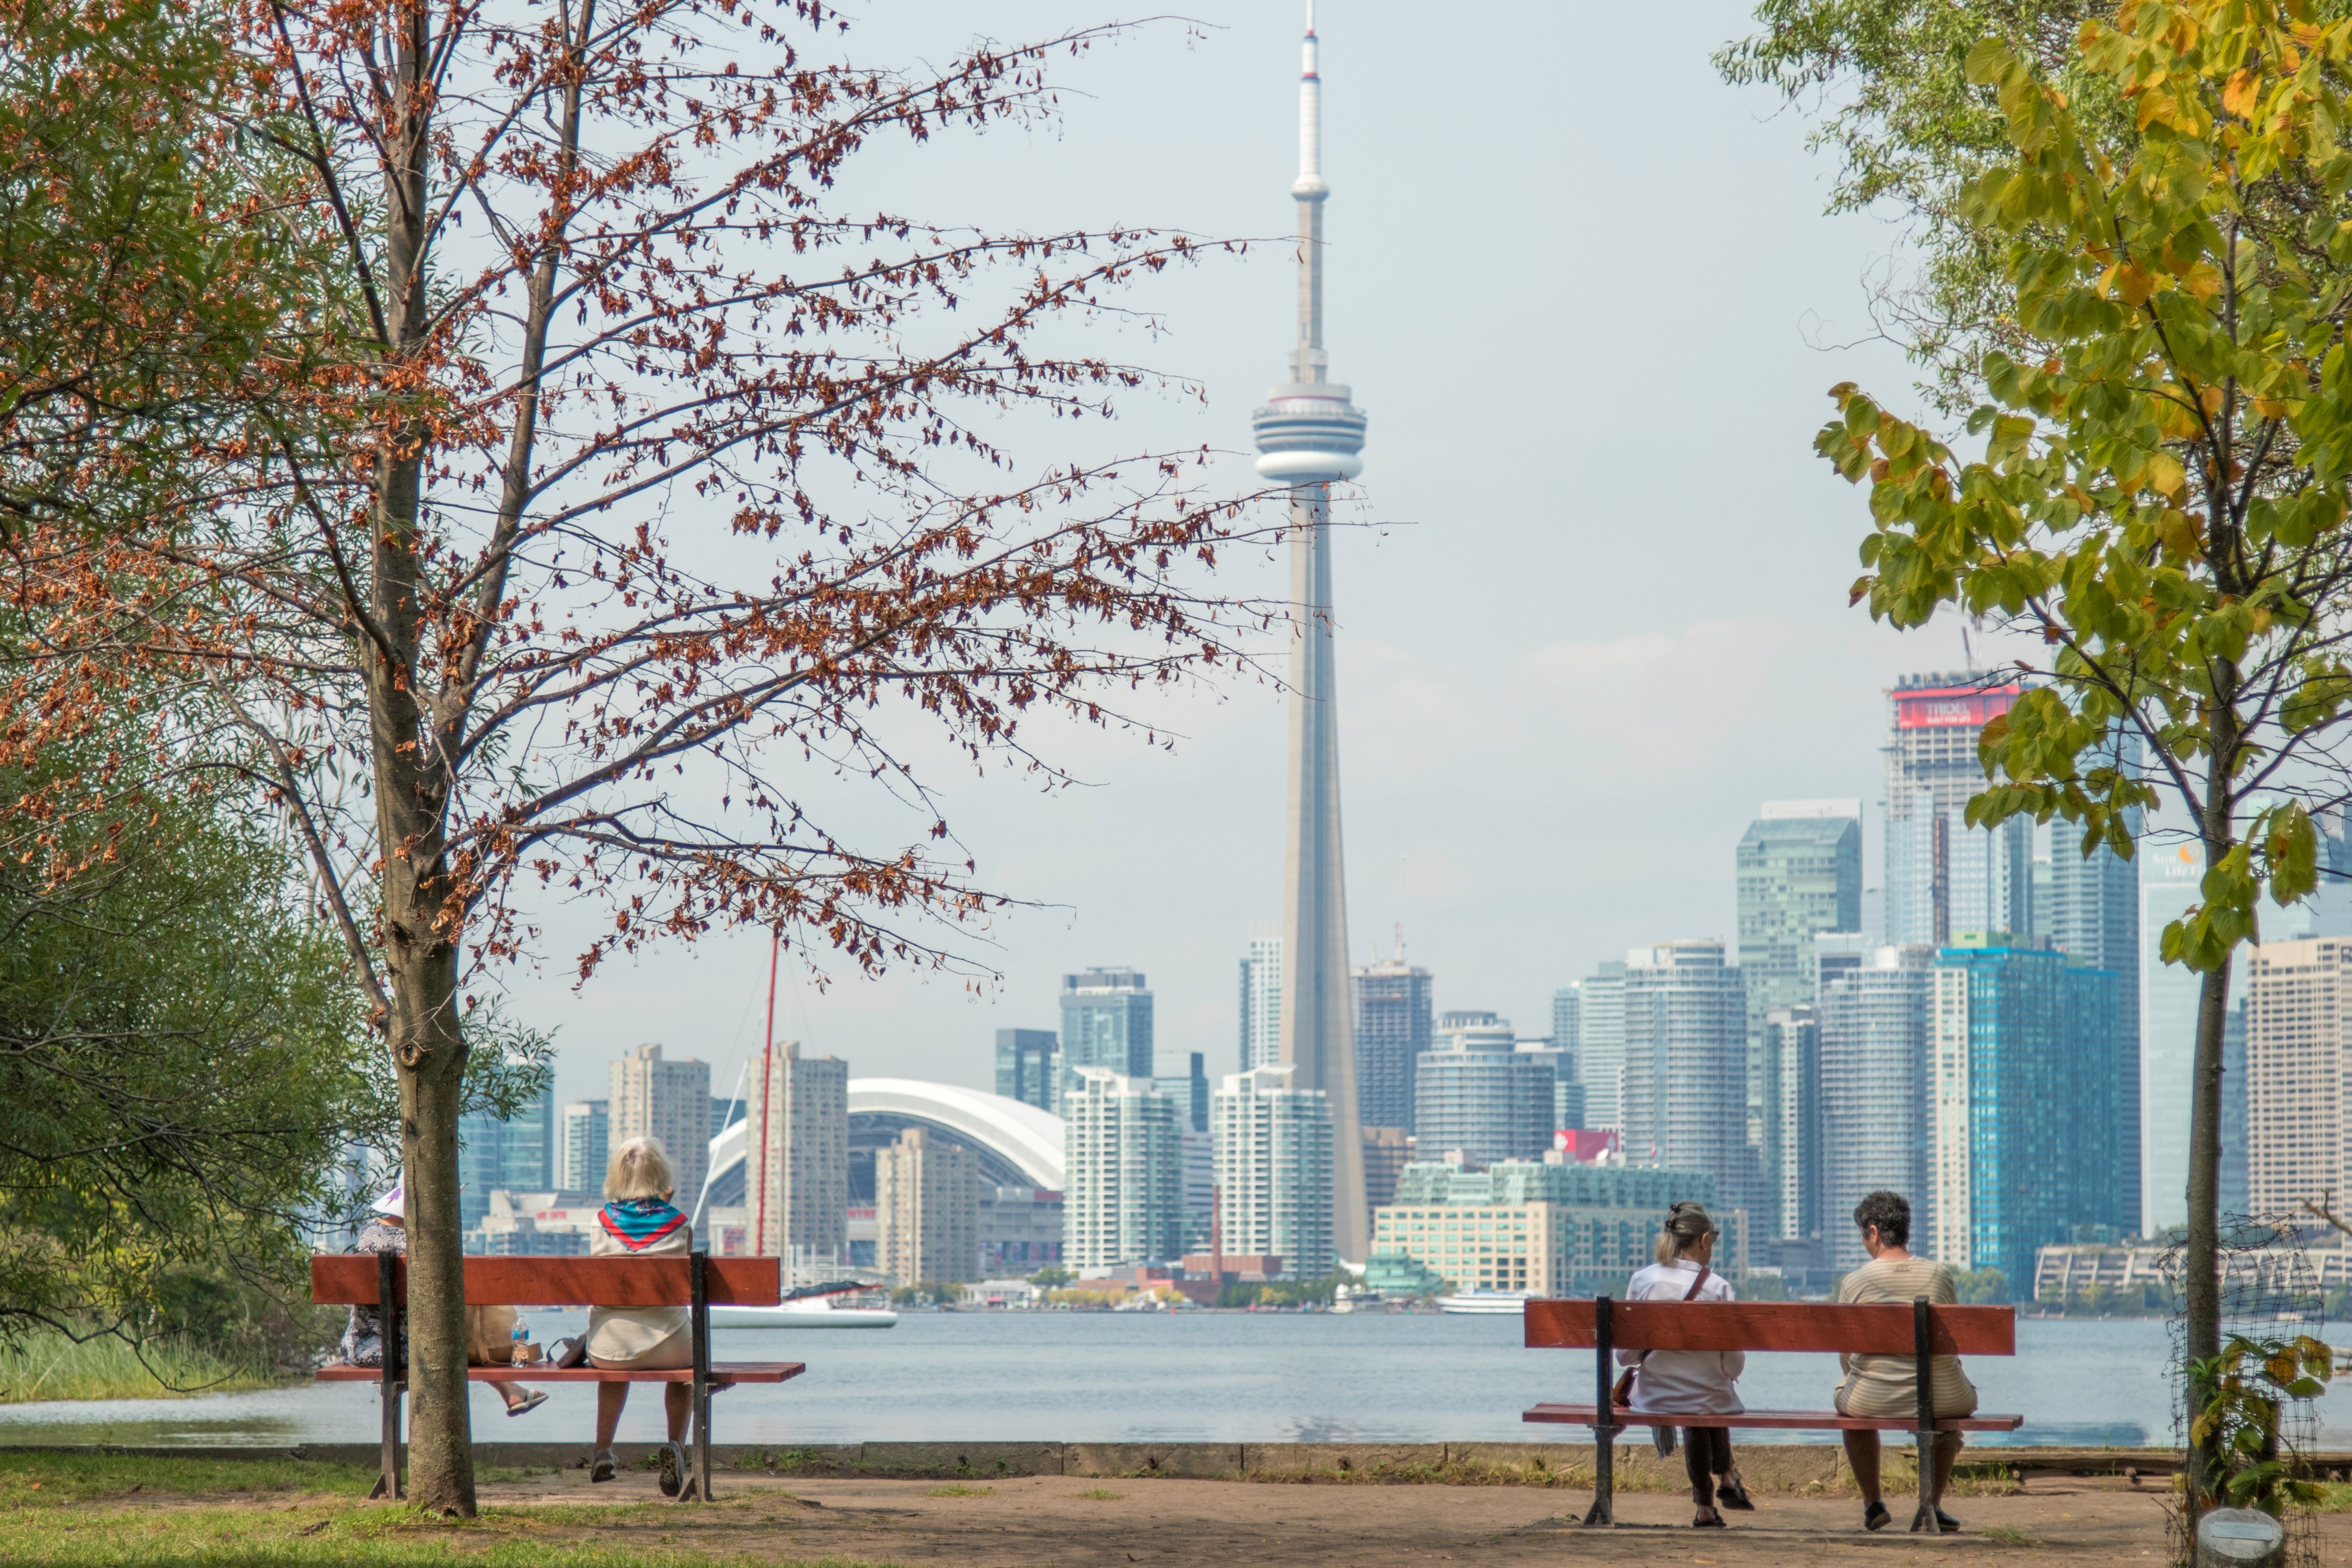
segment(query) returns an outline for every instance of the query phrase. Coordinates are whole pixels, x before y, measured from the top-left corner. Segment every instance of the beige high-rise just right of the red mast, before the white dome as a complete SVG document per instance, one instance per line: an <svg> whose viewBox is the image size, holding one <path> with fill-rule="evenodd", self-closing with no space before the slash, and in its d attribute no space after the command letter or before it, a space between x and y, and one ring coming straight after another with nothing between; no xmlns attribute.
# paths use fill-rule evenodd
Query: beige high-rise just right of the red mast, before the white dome
<svg viewBox="0 0 2352 1568"><path fill-rule="evenodd" d="M779 1041L750 1065L743 1201L753 1251L804 1260L849 1260L849 1063L802 1056Z"/></svg>

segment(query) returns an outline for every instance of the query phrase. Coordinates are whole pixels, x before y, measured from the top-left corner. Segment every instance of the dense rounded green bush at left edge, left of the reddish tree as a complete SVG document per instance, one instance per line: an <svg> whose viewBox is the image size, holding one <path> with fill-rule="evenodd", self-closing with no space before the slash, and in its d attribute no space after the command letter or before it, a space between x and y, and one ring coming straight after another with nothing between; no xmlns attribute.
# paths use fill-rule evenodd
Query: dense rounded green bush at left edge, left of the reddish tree
<svg viewBox="0 0 2352 1568"><path fill-rule="evenodd" d="M40 802L0 844L0 1338L252 1324L369 1114L343 950L266 818L47 783L0 769Z"/></svg>

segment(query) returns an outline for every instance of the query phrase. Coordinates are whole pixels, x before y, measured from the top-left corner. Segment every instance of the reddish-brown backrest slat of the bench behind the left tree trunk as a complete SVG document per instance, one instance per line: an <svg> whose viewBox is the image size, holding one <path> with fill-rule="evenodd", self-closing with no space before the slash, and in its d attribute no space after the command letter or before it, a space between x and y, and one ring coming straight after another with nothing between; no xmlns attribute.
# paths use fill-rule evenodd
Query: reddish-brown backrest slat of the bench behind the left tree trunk
<svg viewBox="0 0 2352 1568"><path fill-rule="evenodd" d="M409 1262L395 1260L397 1291L407 1300ZM713 1258L710 1302L717 1307L774 1307L783 1300L783 1272L774 1258ZM310 1300L334 1307L374 1307L376 1255L325 1253L310 1258ZM694 1284L687 1255L663 1258L468 1258L466 1300L475 1307L687 1307Z"/></svg>

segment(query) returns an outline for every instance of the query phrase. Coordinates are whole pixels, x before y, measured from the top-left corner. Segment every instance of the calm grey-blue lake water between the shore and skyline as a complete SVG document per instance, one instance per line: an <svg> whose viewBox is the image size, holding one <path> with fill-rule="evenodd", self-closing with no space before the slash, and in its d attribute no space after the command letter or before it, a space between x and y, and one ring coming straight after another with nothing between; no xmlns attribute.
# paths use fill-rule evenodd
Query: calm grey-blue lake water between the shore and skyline
<svg viewBox="0 0 2352 1568"><path fill-rule="evenodd" d="M583 1312L529 1314L534 1338L579 1333ZM717 1333L720 1361L807 1361L786 1385L717 1396L729 1443L854 1441L1529 1441L1538 1399L1592 1399L1592 1356L1531 1352L1517 1316L1160 1312L910 1312L880 1331ZM1971 1359L1983 1410L2020 1410L2016 1443L2171 1443L2157 1319L2018 1324L2013 1359ZM1825 1408L1835 1356L1755 1354L1752 1408ZM508 1420L475 1385L480 1441L590 1432L588 1385ZM2352 1403L2352 1401L2347 1401ZM2324 1420L2352 1446L2352 1410ZM626 1441L661 1439L661 1401L635 1392ZM1769 1441L1832 1439L1773 1434ZM367 1443L369 1385L303 1385L202 1399L0 1406L0 1443Z"/></svg>

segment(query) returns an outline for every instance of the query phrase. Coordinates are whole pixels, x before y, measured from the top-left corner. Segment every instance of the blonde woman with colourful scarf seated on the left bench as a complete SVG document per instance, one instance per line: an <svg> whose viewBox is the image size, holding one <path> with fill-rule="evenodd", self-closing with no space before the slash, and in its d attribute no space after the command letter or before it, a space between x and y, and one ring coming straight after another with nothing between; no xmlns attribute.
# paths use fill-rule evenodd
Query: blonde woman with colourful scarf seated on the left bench
<svg viewBox="0 0 2352 1568"><path fill-rule="evenodd" d="M659 1138L630 1138L604 1168L604 1208L588 1232L590 1258L659 1258L694 1251L694 1227L670 1204L677 1175ZM687 1307L590 1307L588 1363L604 1371L673 1371L694 1366L694 1314ZM661 1389L670 1441L661 1446L661 1490L675 1497L687 1483L687 1413L694 1396L684 1382ZM595 1385L595 1462L588 1481L612 1481L619 1469L612 1436L628 1403L626 1382Z"/></svg>

